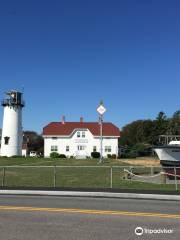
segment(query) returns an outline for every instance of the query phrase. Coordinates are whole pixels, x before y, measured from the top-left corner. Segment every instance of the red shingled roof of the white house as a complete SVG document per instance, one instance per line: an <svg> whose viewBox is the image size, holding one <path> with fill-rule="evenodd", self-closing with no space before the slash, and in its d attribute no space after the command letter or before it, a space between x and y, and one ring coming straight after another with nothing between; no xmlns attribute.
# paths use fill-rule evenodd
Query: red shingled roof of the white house
<svg viewBox="0 0 180 240"><path fill-rule="evenodd" d="M94 136L100 136L100 126L98 122L51 122L43 128L43 135L69 136L75 129L89 129ZM103 123L103 136L120 137L119 128L114 124Z"/></svg>

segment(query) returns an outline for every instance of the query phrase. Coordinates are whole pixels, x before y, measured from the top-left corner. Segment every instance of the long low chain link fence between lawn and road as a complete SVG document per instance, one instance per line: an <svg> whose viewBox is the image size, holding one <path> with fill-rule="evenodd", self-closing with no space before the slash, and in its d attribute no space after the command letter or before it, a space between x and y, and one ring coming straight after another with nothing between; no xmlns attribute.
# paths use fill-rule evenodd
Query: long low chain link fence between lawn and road
<svg viewBox="0 0 180 240"><path fill-rule="evenodd" d="M1 166L1 188L180 190L180 168L144 166Z"/></svg>

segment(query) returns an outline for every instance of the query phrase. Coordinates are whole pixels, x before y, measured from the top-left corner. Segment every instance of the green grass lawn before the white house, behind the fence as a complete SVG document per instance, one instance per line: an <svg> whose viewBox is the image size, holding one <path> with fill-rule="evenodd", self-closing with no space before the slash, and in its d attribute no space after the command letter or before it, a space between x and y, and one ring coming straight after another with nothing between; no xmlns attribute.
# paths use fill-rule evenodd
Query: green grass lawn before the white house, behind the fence
<svg viewBox="0 0 180 240"><path fill-rule="evenodd" d="M112 180L112 187L119 189L175 190L174 184L125 180L124 165L127 166L119 160L112 159L106 159L103 164L98 164L97 159L0 158L0 186L54 187L55 184L59 188L110 188ZM3 166L7 167L4 169ZM156 173L160 170L155 168ZM150 174L150 168L137 167L133 168L133 172Z"/></svg>

